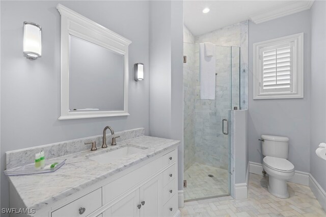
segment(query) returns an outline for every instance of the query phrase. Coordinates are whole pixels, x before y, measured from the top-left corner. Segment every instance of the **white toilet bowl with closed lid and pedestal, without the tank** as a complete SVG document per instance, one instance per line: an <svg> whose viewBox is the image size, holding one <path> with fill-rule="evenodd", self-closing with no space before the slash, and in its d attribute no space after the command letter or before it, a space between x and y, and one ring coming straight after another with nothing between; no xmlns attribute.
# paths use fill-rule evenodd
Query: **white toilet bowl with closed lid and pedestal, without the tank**
<svg viewBox="0 0 326 217"><path fill-rule="evenodd" d="M293 164L284 158L266 156L263 158L263 168L269 175L268 192L278 198L288 198L286 181L294 175Z"/></svg>

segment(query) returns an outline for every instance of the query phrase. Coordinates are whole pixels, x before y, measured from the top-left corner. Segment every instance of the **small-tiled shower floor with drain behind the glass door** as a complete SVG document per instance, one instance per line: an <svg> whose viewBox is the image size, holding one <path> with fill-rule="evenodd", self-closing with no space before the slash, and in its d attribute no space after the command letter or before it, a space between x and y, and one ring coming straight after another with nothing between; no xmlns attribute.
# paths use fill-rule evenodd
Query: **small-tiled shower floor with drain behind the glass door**
<svg viewBox="0 0 326 217"><path fill-rule="evenodd" d="M184 200L229 194L227 170L195 162L183 176L187 180L187 187L183 188Z"/></svg>

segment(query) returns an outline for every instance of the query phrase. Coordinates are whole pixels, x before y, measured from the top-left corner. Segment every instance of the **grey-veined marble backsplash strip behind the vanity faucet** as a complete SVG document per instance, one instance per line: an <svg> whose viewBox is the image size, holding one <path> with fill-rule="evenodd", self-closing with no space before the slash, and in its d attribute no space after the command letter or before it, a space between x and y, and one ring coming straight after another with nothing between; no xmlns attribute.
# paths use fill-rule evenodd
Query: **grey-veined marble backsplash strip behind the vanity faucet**
<svg viewBox="0 0 326 217"><path fill-rule="evenodd" d="M110 130L106 130L106 143L111 144L112 135ZM145 134L145 128L137 128L131 130L125 130L120 132L115 132L116 141L129 140L136 137L141 137ZM97 148L100 148L102 145L103 135L95 135L94 137L87 137L77 140L70 140L60 143L53 143L43 146L37 146L27 149L19 149L15 151L6 152L6 168L13 168L18 165L30 164L35 160L35 153L44 151L45 159L52 159L68 154L73 154L80 151L90 150L91 144L85 145L85 142L95 141Z"/></svg>

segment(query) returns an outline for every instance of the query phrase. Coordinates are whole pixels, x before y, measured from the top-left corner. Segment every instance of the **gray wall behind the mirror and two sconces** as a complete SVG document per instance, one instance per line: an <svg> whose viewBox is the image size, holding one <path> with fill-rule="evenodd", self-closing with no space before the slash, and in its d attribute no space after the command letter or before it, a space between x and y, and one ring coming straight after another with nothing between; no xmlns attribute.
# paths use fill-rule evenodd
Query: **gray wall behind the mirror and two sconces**
<svg viewBox="0 0 326 217"><path fill-rule="evenodd" d="M129 46L128 117L59 121L60 14L58 3L132 41ZM137 12L137 13L135 13ZM22 57L22 24L42 27L42 57ZM182 31L182 29L181 29ZM1 171L5 152L102 133L145 127L149 134L149 3L147 1L1 1ZM144 63L145 79L133 80L133 64ZM8 181L1 175L2 207L9 207Z"/></svg>

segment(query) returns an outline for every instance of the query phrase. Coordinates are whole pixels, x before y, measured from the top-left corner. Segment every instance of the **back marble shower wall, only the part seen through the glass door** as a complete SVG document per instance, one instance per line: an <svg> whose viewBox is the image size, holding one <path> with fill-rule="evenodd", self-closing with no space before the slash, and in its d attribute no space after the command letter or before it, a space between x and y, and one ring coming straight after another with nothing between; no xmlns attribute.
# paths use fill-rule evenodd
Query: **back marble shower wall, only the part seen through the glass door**
<svg viewBox="0 0 326 217"><path fill-rule="evenodd" d="M199 57L199 46L196 54ZM228 169L228 135L222 132L222 119L228 119L230 110L230 47L216 46L215 100L200 99L199 58L196 58L196 162Z"/></svg>

